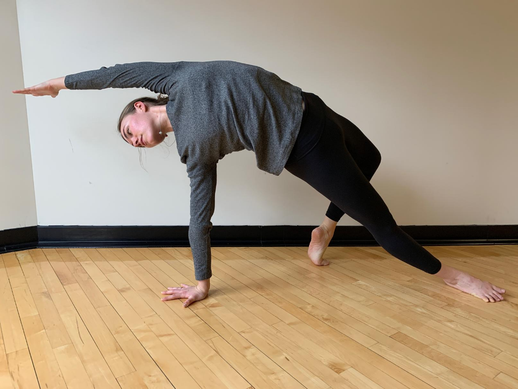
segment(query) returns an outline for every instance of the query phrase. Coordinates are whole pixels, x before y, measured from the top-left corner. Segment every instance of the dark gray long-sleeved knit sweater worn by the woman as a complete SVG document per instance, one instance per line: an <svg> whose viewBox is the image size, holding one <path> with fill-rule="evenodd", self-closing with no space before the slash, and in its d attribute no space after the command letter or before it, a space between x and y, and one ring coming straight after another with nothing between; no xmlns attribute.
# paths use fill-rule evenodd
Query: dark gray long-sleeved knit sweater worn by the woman
<svg viewBox="0 0 518 389"><path fill-rule="evenodd" d="M255 153L257 168L281 174L302 121L302 89L261 67L234 61L116 64L69 74L65 86L147 88L169 96L167 116L190 178L194 276L210 278L217 163L247 149Z"/></svg>

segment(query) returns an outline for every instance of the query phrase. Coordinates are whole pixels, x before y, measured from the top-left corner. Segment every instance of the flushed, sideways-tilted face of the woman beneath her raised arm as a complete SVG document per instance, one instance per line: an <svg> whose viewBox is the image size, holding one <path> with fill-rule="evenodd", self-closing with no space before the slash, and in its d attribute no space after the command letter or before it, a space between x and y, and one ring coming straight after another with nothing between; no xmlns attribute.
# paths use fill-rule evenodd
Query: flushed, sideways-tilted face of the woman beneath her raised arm
<svg viewBox="0 0 518 389"><path fill-rule="evenodd" d="M159 111L148 108L140 101L135 103L135 109L135 113L122 119L122 138L134 147L153 147L161 143L165 136L159 134Z"/></svg>

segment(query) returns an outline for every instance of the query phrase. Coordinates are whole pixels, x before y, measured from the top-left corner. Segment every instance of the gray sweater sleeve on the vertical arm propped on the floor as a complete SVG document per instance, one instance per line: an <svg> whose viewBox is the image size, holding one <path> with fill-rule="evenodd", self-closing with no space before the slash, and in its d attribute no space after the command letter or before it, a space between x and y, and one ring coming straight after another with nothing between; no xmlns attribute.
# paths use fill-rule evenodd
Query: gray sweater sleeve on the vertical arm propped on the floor
<svg viewBox="0 0 518 389"><path fill-rule="evenodd" d="M194 262L194 277L197 281L210 278L211 252L210 231L214 214L216 193L216 171L218 162L203 164L187 163L187 174L191 180L191 220L189 243Z"/></svg>

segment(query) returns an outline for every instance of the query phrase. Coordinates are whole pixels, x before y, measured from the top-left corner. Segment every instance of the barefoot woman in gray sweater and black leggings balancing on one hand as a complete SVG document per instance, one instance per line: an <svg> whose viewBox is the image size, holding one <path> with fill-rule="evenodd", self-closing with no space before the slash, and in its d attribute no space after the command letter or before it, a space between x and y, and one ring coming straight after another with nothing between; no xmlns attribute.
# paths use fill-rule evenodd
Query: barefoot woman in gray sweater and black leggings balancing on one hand
<svg viewBox="0 0 518 389"><path fill-rule="evenodd" d="M153 147L174 132L190 178L189 242L198 285L167 288L163 301L186 298L187 307L207 296L216 166L226 154L245 148L255 153L259 169L279 175L285 168L331 201L323 223L311 233L308 256L315 265L329 264L322 256L338 220L347 213L394 257L485 302L503 300L505 290L441 265L396 225L369 182L380 153L358 127L317 95L261 67L234 61L117 64L13 93L56 97L61 89L109 87L143 87L168 96L130 102L117 131L135 147Z"/></svg>

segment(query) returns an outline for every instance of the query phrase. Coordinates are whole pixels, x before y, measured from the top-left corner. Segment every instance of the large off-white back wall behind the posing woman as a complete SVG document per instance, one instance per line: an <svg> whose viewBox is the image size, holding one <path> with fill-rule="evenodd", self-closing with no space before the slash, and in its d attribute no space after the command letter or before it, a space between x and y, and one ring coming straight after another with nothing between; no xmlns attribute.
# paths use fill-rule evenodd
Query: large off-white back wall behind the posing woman
<svg viewBox="0 0 518 389"><path fill-rule="evenodd" d="M518 222L518 2L17 4L26 86L125 62L255 64L319 95L377 145L371 182L399 225ZM143 95L154 94L27 96L39 225L189 224L176 145L143 151L146 172L116 132ZM258 170L249 151L218 163L216 201L214 225L318 225L328 205L289 172Z"/></svg>

